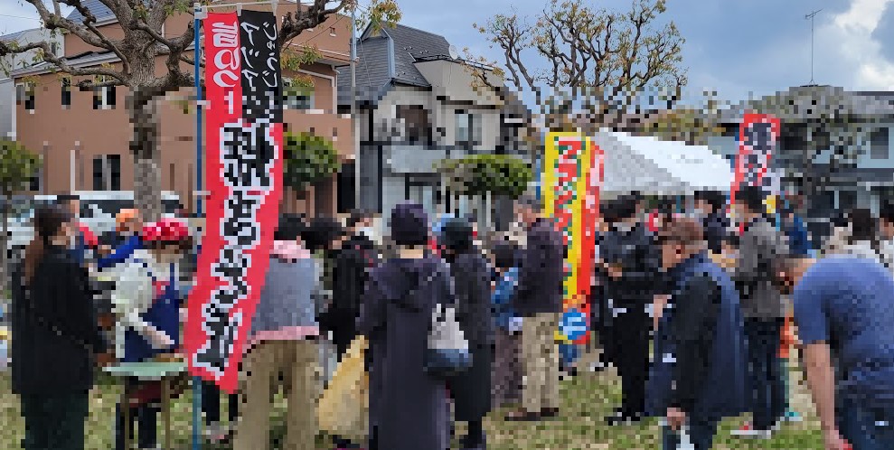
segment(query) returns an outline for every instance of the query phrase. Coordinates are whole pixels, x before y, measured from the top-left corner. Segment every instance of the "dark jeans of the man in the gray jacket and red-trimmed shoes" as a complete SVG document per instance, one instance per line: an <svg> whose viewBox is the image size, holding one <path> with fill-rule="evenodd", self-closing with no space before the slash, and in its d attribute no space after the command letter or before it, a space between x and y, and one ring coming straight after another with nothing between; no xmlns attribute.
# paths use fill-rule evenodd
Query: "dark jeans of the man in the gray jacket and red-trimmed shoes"
<svg viewBox="0 0 894 450"><path fill-rule="evenodd" d="M766 430L786 414L786 385L779 363L783 319L746 319L752 427Z"/></svg>

